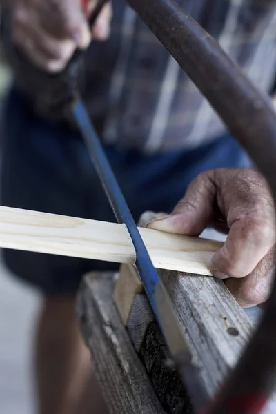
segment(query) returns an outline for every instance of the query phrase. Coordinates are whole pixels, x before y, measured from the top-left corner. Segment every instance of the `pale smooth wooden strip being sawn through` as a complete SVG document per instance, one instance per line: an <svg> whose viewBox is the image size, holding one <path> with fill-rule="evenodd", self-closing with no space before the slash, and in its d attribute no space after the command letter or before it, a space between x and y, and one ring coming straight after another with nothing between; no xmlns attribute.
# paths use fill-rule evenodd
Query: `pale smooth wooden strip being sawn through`
<svg viewBox="0 0 276 414"><path fill-rule="evenodd" d="M221 242L139 228L157 268L210 275ZM124 224L106 223L0 206L0 247L107 262L135 263Z"/></svg>

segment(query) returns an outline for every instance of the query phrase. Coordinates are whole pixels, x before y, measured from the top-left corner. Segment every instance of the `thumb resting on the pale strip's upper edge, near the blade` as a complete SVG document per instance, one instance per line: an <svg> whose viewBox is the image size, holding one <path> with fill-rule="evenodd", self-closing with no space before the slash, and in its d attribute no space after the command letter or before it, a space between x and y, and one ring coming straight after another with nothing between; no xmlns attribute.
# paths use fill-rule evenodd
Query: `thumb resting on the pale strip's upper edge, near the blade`
<svg viewBox="0 0 276 414"><path fill-rule="evenodd" d="M168 233L200 235L213 215L216 188L212 173L196 177L172 213L150 221L147 227Z"/></svg>

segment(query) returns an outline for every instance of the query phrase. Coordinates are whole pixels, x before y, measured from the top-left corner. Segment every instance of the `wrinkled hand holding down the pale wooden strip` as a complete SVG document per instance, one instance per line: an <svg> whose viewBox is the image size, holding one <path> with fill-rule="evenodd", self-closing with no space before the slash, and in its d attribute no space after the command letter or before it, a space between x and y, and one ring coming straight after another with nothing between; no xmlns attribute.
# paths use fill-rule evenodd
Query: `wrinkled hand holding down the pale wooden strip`
<svg viewBox="0 0 276 414"><path fill-rule="evenodd" d="M213 226L229 231L210 270L244 307L265 302L273 280L275 213L264 178L253 170L218 169L195 178L172 214L148 227L199 235Z"/></svg>

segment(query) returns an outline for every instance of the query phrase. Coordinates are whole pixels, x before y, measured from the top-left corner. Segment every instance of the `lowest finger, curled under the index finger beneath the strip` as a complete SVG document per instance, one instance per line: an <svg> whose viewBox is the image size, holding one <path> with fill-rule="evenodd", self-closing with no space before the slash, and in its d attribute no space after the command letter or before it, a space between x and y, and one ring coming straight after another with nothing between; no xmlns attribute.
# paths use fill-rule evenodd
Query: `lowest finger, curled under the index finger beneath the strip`
<svg viewBox="0 0 276 414"><path fill-rule="evenodd" d="M243 279L230 278L224 282L243 308L266 302L273 285L274 263L275 247L269 250L250 275Z"/></svg>

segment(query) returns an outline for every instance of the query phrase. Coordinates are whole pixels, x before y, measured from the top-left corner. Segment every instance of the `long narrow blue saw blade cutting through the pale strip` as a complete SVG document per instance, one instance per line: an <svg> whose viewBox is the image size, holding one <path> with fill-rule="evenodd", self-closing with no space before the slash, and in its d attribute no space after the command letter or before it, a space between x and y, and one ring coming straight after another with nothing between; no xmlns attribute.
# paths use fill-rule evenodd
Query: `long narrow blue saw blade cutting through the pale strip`
<svg viewBox="0 0 276 414"><path fill-rule="evenodd" d="M175 368L179 371L195 408L201 410L206 406L208 395L201 383L199 369L193 364L190 349L172 308L166 288L152 264L148 250L130 213L126 199L121 193L121 188L103 150L101 141L97 137L86 107L79 97L75 99L75 103L72 105L72 115L79 126L115 217L119 223L125 224L128 229L136 253L135 268L172 355L172 361L175 362Z"/></svg>

